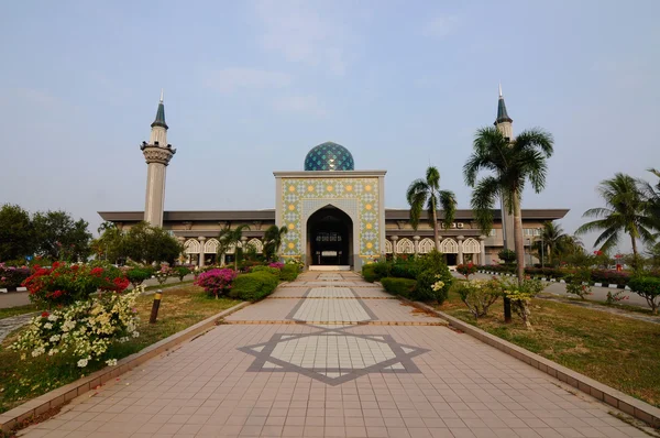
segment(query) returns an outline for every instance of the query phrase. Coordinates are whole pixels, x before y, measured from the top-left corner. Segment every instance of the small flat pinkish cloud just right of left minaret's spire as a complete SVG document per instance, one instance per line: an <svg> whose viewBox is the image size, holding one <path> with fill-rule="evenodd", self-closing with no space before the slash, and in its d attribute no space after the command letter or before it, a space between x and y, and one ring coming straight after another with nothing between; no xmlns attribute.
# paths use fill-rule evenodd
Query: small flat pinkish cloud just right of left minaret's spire
<svg viewBox="0 0 660 438"><path fill-rule="evenodd" d="M256 68L224 68L213 72L207 78L207 85L220 92L239 89L284 88L292 83L290 75Z"/></svg>

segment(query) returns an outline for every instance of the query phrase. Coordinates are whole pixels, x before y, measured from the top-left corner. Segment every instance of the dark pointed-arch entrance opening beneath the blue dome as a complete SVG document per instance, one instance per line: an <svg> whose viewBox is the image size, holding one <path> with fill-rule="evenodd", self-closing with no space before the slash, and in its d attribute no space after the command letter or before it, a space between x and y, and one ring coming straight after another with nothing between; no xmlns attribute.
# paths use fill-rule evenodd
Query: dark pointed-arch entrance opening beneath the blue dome
<svg viewBox="0 0 660 438"><path fill-rule="evenodd" d="M337 207L317 210L307 220L307 253L310 265L352 263L353 221Z"/></svg>

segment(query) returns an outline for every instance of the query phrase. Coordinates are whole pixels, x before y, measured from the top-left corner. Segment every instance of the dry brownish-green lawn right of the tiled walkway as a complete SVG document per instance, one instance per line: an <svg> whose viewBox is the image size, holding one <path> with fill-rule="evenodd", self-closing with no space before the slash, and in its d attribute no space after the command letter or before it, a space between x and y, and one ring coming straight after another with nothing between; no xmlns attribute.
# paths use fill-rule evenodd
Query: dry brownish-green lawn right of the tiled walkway
<svg viewBox="0 0 660 438"><path fill-rule="evenodd" d="M502 300L475 321L450 291L440 310L608 386L660 407L660 325L547 299L532 299L526 330L504 324Z"/></svg>

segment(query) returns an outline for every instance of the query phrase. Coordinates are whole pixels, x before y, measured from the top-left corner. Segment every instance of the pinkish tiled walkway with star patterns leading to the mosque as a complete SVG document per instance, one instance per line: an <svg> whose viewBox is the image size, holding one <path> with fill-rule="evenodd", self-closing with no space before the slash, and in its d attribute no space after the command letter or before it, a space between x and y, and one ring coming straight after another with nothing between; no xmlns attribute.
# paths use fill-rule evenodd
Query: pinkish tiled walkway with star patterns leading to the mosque
<svg viewBox="0 0 660 438"><path fill-rule="evenodd" d="M647 437L353 273L305 273L26 437Z"/></svg>

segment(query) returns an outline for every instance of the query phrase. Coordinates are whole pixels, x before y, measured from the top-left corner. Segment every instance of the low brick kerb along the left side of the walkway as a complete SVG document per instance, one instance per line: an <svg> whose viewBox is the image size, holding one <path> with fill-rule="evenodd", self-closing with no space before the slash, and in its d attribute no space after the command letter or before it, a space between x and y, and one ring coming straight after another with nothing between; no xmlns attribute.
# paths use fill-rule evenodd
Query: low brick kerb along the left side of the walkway
<svg viewBox="0 0 660 438"><path fill-rule="evenodd" d="M70 399L76 398L78 395L94 390L96 386L141 365L150 359L153 359L194 337L204 335L208 330L216 327L218 319L229 316L234 311L249 306L250 304L251 303L249 302L239 303L227 310L222 310L221 313L201 320L185 330L174 333L142 349L136 353L119 360L114 366L106 366L88 376L78 379L75 382L51 391L44 395L23 403L20 406L16 406L11 410L0 414L0 430L9 432L24 420L33 416L41 415L50 409L59 407Z"/></svg>

